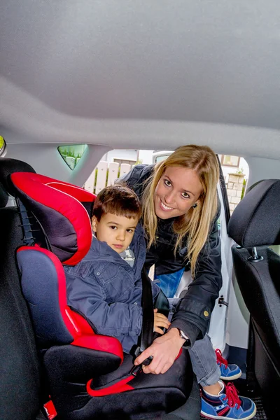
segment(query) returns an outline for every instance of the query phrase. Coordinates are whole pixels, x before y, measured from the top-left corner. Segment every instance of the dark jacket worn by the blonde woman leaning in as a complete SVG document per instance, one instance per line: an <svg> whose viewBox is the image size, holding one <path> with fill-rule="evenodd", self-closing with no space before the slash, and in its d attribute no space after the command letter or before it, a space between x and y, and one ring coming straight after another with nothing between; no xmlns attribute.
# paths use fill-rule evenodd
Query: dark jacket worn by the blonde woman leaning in
<svg viewBox="0 0 280 420"><path fill-rule="evenodd" d="M153 165L137 165L122 177L127 186L132 188L141 198L144 181L152 174ZM118 181L117 181L118 182ZM172 327L179 328L190 338L191 346L195 339L204 337L207 332L211 311L222 286L221 277L221 243L218 233L218 216L214 220L209 240L204 245L197 259L195 279L183 299L180 300L172 318ZM176 272L182 267L190 268L188 260L184 260L187 252L186 242L174 256L176 234L172 226L174 218L162 220L158 218L157 243L147 251L146 266L155 264L157 274Z"/></svg>

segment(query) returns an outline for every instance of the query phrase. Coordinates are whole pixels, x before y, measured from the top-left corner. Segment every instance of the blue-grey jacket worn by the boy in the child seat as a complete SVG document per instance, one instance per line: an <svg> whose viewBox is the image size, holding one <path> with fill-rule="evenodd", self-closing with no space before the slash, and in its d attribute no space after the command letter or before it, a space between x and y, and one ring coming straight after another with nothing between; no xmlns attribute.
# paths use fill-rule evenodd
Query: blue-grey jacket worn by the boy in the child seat
<svg viewBox="0 0 280 420"><path fill-rule="evenodd" d="M142 327L141 269L146 244L140 223L130 248L135 255L133 267L106 242L93 237L85 258L75 267L64 266L69 306L85 315L98 334L118 338L126 353L137 344ZM155 302L160 288L151 283Z"/></svg>

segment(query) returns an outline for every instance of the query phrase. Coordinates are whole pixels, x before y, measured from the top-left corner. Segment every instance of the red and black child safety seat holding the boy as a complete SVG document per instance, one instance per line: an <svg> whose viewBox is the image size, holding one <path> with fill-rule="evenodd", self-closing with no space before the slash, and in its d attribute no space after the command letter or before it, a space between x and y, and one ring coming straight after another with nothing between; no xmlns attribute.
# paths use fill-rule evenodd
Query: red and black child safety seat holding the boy
<svg viewBox="0 0 280 420"><path fill-rule="evenodd" d="M18 249L22 291L59 419L148 419L183 405L193 375L188 352L162 375L130 374L117 339L94 334L66 304L64 269L87 253L91 226L80 202L93 195L34 173L13 173L25 246Z"/></svg>

